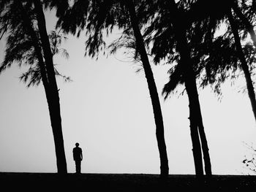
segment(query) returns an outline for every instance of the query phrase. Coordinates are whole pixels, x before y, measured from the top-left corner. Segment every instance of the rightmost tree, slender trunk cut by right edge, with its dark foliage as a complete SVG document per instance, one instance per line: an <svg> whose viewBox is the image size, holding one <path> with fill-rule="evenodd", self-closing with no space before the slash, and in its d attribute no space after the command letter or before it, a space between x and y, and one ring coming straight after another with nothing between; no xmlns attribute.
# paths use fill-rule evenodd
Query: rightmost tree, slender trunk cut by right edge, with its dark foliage
<svg viewBox="0 0 256 192"><path fill-rule="evenodd" d="M250 70L250 65L255 61L254 52L252 51L252 46L248 43L244 48L241 45L241 41L246 38L247 33L250 34L255 45L255 31L252 26L252 23L255 22L255 3L253 1L240 1L240 4L238 4L237 1L225 1L218 8L218 12L211 11L215 10L216 6L219 6L217 1L206 2L198 0L187 11L187 15L191 16L187 20L190 23L194 22L194 28L201 25L199 30L202 31L202 35L196 39L196 41L200 42L197 43L198 47L191 45L192 41L189 42L190 46L193 47L194 54L192 55L196 55L194 57L194 69L196 69L197 74L200 74L201 70L205 69L206 73L204 75L206 79L203 79L202 85L204 86L205 82L215 84L215 90L219 92L220 83L230 77L230 72L231 78L234 78L236 77L234 74L236 70L241 68L246 78L252 110L256 114L255 91L251 77L252 71ZM214 7L216 8L214 9ZM203 11L197 12L199 9ZM232 11L236 13L240 20L235 18ZM186 23L187 26L189 26L189 22ZM221 22L229 25L227 32L220 37L214 38L213 32L217 30ZM206 28L202 30L202 25L205 24Z"/></svg>

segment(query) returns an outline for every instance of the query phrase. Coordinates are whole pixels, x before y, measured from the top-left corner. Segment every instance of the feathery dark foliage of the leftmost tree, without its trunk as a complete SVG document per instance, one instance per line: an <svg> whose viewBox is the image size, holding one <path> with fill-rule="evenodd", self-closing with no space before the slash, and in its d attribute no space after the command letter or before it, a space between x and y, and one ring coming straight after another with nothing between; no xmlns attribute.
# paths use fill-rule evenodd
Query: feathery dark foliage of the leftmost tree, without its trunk
<svg viewBox="0 0 256 192"><path fill-rule="evenodd" d="M23 82L27 82L27 86L31 85L39 85L42 81L42 75L40 72L39 61L37 58L37 52L34 48L34 42L37 41L39 46L41 45L38 28L37 28L37 20L36 13L34 12L33 4L31 1L29 3L26 2L24 4L24 9L27 12L29 20L31 20L31 26L37 34L36 39L33 39L31 35L29 35L28 28L26 27L26 21L24 21L23 15L20 12L20 8L18 4L12 3L10 4L2 4L1 11L1 23L0 23L0 34L4 36L7 34L7 43L5 49L4 61L0 66L0 73L5 69L12 66L12 64L18 64L18 66L28 66L28 71L24 72L20 75L20 80ZM53 55L57 55L61 53L65 58L68 58L67 50L63 48L59 48L63 39L67 39L61 34L61 31L51 31L49 34L50 45ZM41 50L41 54L43 52ZM58 72L55 68L56 75L60 77L64 77L65 81L69 81L69 77L66 77Z"/></svg>

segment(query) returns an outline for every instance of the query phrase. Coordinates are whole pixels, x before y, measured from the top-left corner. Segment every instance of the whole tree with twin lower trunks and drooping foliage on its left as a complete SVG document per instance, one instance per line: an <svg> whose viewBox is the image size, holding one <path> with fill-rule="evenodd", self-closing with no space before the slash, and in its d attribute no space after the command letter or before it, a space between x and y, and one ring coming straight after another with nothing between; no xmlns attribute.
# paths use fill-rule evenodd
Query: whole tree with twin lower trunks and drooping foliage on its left
<svg viewBox="0 0 256 192"><path fill-rule="evenodd" d="M157 64L165 59L167 63L173 65L169 70L170 81L167 82L162 93L167 99L167 96L178 84L185 85L189 97L189 120L195 172L198 177L203 175L202 147L206 174L211 176L211 161L200 112L196 73L193 69L196 58L192 58L192 48L187 42L187 38L189 38L187 34L191 32L189 31L191 26L186 24L184 7L178 6L175 1L169 3L165 1L155 2L151 6L157 10L148 11L148 14L145 15L145 19L148 18L151 23L148 23L144 35L147 37L146 42L152 47L151 54L154 55L154 62ZM157 14L154 14L155 12ZM198 34L194 34L194 37L197 38Z"/></svg>

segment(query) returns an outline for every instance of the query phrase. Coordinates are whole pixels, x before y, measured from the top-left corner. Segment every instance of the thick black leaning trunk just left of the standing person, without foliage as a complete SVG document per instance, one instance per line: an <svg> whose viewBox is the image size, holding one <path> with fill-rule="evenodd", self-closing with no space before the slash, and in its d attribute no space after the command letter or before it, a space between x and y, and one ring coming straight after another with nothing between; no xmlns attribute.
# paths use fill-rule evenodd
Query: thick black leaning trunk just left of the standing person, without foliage
<svg viewBox="0 0 256 192"><path fill-rule="evenodd" d="M56 150L56 161L58 173L67 173L67 162L64 152L64 139L61 128L61 110L59 104L59 91L56 83L55 71L53 67L53 55L50 50L50 42L45 26L45 15L42 10L42 4L39 0L34 0L37 12L37 24L39 28L39 37L42 42L42 50L45 58L45 65L48 77L49 88L45 89L50 112L50 122L53 129L53 139Z"/></svg>

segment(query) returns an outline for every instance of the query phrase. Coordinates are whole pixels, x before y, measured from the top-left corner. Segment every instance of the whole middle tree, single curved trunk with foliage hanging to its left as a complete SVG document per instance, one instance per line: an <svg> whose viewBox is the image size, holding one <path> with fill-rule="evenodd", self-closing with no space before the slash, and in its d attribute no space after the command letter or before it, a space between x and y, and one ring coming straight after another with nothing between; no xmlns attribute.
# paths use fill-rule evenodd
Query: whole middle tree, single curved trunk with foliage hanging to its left
<svg viewBox="0 0 256 192"><path fill-rule="evenodd" d="M137 2L137 1L136 1ZM77 12L79 10L80 12ZM60 17L59 26L71 32L80 35L80 31L86 28L89 35L86 41L87 54L94 57L105 47L102 32L107 34L116 26L126 31L132 30L135 37L136 50L140 54L143 69L148 82L148 90L151 96L151 103L154 111L154 120L156 124L157 144L160 156L161 177L167 177L169 172L167 152L164 137L164 125L162 120L162 110L157 93L157 86L154 82L154 75L148 61L148 55L143 43L143 37L140 33L140 23L138 12L132 0L114 1L75 1L71 9L67 9L66 14Z"/></svg>

